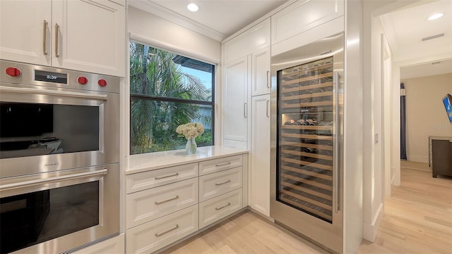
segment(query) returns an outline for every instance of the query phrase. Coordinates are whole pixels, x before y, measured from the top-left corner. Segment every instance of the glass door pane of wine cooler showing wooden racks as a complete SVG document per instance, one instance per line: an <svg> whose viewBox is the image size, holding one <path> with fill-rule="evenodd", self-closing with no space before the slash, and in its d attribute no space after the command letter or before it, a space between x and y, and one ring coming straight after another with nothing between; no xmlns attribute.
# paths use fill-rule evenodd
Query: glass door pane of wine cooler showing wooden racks
<svg viewBox="0 0 452 254"><path fill-rule="evenodd" d="M333 57L277 72L276 200L333 221Z"/></svg>

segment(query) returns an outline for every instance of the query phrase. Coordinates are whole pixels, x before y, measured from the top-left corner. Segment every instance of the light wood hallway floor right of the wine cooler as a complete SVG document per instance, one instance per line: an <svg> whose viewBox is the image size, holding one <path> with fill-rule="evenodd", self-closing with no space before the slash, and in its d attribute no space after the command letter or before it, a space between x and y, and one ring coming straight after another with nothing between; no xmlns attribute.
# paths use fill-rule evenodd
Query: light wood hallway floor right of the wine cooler
<svg viewBox="0 0 452 254"><path fill-rule="evenodd" d="M452 253L452 177L433 178L427 163L401 161L400 170L375 242L357 253Z"/></svg>

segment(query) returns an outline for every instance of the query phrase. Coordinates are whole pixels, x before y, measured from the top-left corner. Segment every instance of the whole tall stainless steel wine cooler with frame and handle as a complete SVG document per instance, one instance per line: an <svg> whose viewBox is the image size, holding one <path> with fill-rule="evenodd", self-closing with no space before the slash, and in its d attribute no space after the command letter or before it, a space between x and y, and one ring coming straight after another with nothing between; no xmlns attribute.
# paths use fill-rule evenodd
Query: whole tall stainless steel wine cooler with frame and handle
<svg viewBox="0 0 452 254"><path fill-rule="evenodd" d="M270 217L342 252L343 34L272 57Z"/></svg>

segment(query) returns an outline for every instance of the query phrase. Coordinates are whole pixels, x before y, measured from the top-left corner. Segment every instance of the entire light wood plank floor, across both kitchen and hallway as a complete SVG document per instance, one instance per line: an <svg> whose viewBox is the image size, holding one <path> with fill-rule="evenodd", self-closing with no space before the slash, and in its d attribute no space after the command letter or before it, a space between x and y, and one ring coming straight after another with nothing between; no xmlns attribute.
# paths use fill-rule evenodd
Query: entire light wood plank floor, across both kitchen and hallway
<svg viewBox="0 0 452 254"><path fill-rule="evenodd" d="M326 252L245 211L162 253ZM452 178L435 179L427 164L403 162L376 241L364 240L357 253L452 253Z"/></svg>

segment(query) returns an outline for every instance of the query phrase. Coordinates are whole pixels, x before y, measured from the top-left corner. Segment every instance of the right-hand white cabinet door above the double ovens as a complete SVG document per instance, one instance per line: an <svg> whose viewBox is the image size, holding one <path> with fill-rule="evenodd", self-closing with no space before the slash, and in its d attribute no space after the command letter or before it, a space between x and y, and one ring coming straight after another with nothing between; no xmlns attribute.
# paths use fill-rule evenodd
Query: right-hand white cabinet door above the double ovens
<svg viewBox="0 0 452 254"><path fill-rule="evenodd" d="M125 8L107 0L54 0L52 65L124 77Z"/></svg>

